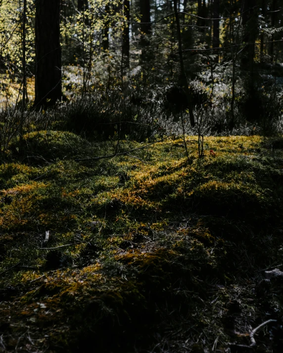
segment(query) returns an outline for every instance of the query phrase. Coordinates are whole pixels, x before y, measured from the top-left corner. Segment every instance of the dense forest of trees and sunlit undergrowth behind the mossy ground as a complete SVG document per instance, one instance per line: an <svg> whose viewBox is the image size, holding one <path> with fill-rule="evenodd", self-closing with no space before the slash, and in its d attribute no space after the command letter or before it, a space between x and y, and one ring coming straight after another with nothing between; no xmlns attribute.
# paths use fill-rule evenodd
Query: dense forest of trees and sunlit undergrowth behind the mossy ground
<svg viewBox="0 0 283 353"><path fill-rule="evenodd" d="M140 118L135 110L141 108L146 123L158 125L150 133L164 132L181 113L184 121L188 113L190 121L192 115L196 119L191 133L281 131L280 0L63 0L60 5L0 3L1 135L9 134L3 109L16 104L39 111L56 102L60 109L68 102L77 110L94 110L86 107L95 102L92 122L77 112L73 128L81 133L87 124L89 133L105 132L107 138L109 131L97 124L121 118L117 112L110 118L104 105L114 111L122 105L128 112L123 120L131 121ZM189 124L184 127L189 131Z"/></svg>

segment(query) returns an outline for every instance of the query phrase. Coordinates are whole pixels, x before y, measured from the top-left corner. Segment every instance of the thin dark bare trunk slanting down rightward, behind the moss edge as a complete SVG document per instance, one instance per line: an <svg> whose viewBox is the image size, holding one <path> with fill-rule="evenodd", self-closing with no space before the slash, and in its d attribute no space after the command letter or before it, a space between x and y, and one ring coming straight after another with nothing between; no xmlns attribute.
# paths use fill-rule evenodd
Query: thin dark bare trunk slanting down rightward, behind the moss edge
<svg viewBox="0 0 283 353"><path fill-rule="evenodd" d="M191 99L190 99L188 79L186 76L185 66L184 66L181 27L180 27L180 20L179 20L179 14L178 14L177 0L174 0L174 12L175 12L175 19L176 19L176 24L177 24L179 58L180 58L180 66L181 66L181 82L182 82L182 86L183 86L183 89L184 89L184 91L186 93L186 97L187 97L190 124L191 124L191 126L194 126L195 122L194 122L194 116L193 116L193 109L192 109L192 104L191 104Z"/></svg>

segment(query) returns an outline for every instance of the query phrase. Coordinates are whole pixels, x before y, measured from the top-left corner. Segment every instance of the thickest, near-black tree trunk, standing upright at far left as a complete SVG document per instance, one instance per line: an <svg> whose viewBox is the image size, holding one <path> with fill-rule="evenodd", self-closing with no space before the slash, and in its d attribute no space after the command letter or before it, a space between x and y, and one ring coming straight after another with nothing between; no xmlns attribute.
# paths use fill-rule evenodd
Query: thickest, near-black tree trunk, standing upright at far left
<svg viewBox="0 0 283 353"><path fill-rule="evenodd" d="M60 0L36 2L35 105L61 99Z"/></svg>

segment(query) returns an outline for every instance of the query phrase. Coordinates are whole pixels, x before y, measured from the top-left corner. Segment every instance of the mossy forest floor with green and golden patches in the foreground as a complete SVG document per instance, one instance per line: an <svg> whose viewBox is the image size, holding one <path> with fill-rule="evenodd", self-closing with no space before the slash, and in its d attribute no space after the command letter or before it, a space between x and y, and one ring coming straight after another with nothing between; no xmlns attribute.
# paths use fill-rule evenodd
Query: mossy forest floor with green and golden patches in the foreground
<svg viewBox="0 0 283 353"><path fill-rule="evenodd" d="M10 145L0 352L283 352L283 138L187 140Z"/></svg>

